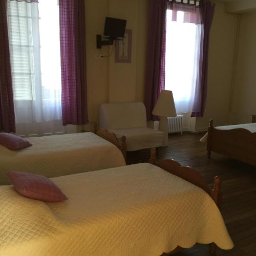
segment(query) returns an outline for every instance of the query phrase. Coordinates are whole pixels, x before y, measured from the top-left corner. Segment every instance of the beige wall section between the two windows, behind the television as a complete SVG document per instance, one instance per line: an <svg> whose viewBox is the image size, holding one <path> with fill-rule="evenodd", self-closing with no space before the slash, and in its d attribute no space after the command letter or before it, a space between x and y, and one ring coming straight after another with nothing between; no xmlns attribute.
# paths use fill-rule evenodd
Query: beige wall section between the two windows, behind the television
<svg viewBox="0 0 256 256"><path fill-rule="evenodd" d="M86 50L89 121L98 122L99 105L103 102L143 101L146 53L146 0L85 0ZM115 63L113 46L96 49L96 34L103 34L105 16L127 19L132 29L132 62ZM90 124L84 129L89 130ZM78 130L81 127L78 127Z"/></svg>

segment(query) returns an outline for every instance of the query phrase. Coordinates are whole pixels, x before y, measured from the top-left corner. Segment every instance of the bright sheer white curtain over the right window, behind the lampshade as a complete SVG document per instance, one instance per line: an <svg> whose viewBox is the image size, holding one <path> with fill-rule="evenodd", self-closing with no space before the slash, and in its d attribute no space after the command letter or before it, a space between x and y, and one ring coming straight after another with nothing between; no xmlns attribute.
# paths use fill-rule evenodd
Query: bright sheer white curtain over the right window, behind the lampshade
<svg viewBox="0 0 256 256"><path fill-rule="evenodd" d="M184 23L184 12L167 10L165 90L173 91L176 111L191 114L198 75L201 25Z"/></svg>

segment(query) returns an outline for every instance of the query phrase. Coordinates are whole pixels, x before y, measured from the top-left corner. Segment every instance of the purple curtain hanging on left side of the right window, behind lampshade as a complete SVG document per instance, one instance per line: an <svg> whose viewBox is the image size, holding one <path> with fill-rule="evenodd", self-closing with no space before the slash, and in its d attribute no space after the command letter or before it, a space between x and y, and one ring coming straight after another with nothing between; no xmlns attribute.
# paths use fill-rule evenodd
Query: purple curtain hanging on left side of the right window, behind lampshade
<svg viewBox="0 0 256 256"><path fill-rule="evenodd" d="M157 120L151 113L160 92L164 90L166 10L167 0L149 1L144 94L147 121Z"/></svg>

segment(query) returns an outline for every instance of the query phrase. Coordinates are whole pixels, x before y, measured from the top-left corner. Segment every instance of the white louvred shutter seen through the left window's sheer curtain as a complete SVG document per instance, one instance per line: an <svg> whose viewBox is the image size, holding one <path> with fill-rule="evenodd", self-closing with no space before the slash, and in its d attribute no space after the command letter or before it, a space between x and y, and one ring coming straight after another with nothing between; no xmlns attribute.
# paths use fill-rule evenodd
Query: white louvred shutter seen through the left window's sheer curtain
<svg viewBox="0 0 256 256"><path fill-rule="evenodd" d="M38 12L34 4L8 3L9 38L11 46L11 63L13 93L15 100L32 100L31 84L34 83L34 50L32 23L38 24ZM32 10L32 9L35 10ZM32 21L32 12L36 13ZM34 43L34 45L33 45ZM39 47L39 46L37 46Z"/></svg>

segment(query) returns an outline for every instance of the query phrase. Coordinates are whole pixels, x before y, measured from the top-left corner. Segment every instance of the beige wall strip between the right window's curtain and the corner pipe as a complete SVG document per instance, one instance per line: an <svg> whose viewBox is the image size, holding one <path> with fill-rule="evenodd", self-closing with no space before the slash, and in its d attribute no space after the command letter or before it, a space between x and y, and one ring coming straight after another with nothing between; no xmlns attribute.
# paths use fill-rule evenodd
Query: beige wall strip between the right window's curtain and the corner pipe
<svg viewBox="0 0 256 256"><path fill-rule="evenodd" d="M225 13L225 5L216 3L209 44L208 90L204 117L196 120L196 130L205 131L209 119L214 124L229 124L229 102L232 83L238 17Z"/></svg>

